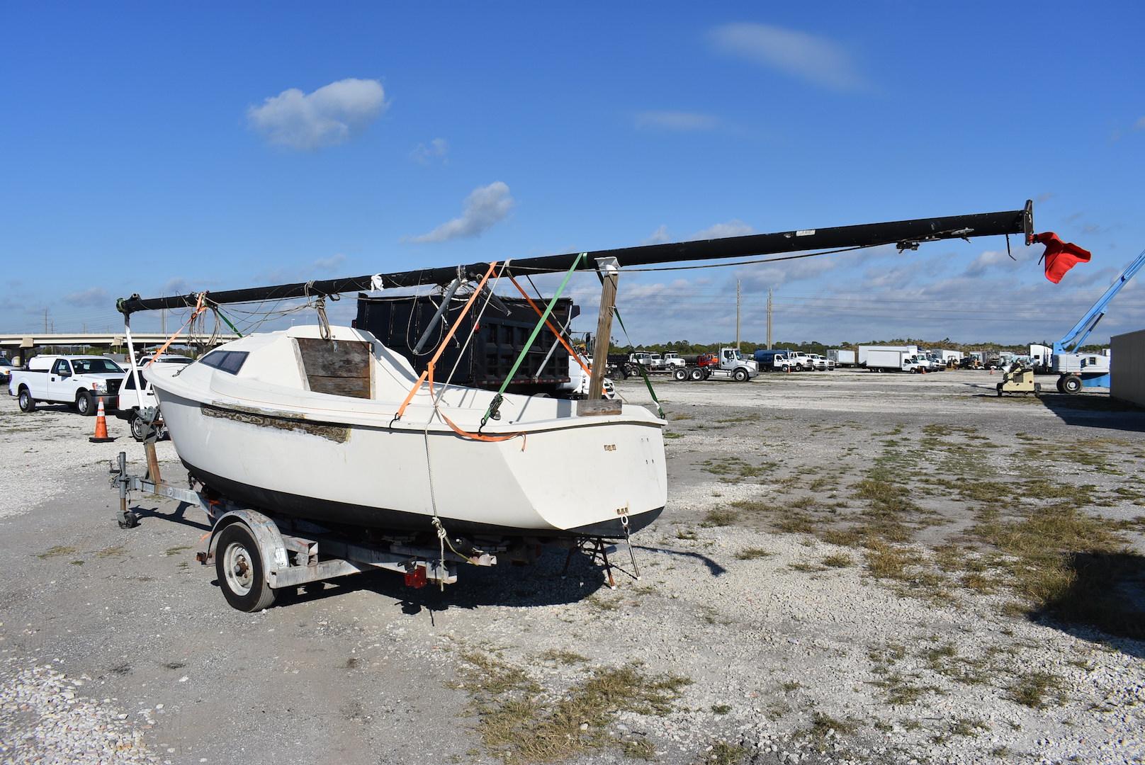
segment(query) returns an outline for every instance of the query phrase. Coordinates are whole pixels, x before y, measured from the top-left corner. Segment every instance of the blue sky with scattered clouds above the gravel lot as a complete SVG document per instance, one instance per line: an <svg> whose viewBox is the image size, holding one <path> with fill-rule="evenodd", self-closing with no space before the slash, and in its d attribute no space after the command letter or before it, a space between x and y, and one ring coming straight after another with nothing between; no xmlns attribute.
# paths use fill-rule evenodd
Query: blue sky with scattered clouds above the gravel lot
<svg viewBox="0 0 1145 765"><path fill-rule="evenodd" d="M6 3L0 331L116 297L1013 210L1002 239L622 278L638 342L1052 339L1143 247L1139 3ZM591 277L577 279L591 329ZM1095 337L1145 326L1130 284ZM350 300L340 306L345 316ZM143 315L139 325L158 317Z"/></svg>

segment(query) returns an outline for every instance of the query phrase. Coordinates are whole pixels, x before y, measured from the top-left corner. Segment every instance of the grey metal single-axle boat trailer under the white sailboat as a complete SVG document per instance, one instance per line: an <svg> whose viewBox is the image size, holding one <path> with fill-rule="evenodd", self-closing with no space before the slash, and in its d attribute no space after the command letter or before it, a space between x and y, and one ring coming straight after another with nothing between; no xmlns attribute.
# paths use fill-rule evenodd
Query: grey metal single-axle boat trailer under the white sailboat
<svg viewBox="0 0 1145 765"><path fill-rule="evenodd" d="M206 549L195 558L204 566L214 562L227 602L239 610L256 612L269 607L276 591L284 587L306 586L362 571L386 569L404 575L405 584L412 587L426 584L444 587L457 582L458 565L495 566L495 553L507 554L514 560L530 557L528 546L511 549L504 541L488 549L473 550L471 554L457 552L440 525L439 544L431 546L419 544L413 535L350 538L317 523L243 507L214 497L206 487L196 490L194 481L190 488L182 488L152 479L159 474L155 443L145 445L149 447L147 475L128 473L127 452L120 451L111 463L111 486L119 490L116 521L123 529L139 525L137 514L128 510L132 491L166 497L202 510L211 531L203 539Z"/></svg>

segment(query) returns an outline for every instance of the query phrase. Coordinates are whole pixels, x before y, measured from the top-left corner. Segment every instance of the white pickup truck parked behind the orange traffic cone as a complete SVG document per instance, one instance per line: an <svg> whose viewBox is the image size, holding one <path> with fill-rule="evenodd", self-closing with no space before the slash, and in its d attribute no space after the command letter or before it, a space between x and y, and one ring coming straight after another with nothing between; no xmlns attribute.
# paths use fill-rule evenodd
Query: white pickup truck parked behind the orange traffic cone
<svg viewBox="0 0 1145 765"><path fill-rule="evenodd" d="M72 404L80 415L95 413L96 403L106 409L119 405L123 368L105 356L35 356L27 369L13 370L8 394L17 396L19 410L35 410L35 403Z"/></svg>

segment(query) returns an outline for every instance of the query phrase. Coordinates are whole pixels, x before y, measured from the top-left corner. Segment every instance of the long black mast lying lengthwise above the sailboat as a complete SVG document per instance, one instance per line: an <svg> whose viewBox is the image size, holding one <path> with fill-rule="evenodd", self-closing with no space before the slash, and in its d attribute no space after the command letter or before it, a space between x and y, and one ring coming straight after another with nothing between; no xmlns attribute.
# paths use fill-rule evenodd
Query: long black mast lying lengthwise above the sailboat
<svg viewBox="0 0 1145 765"><path fill-rule="evenodd" d="M598 258L616 258L623 269L625 266L660 266L686 261L725 260L728 258L810 252L813 250L868 247L882 244L897 244L900 247L914 249L923 242L969 238L972 236L998 236L1003 234L1022 234L1026 237L1026 244L1032 242L1034 234L1034 205L1032 202L1027 200L1026 206L1021 210L1009 210L996 213L919 218L887 223L837 226L835 228L733 236L722 239L701 239L696 242L674 242L639 247L598 250L589 253L579 270L595 269ZM511 262L510 271L512 273L514 269L528 273L563 271L572 266L578 254L567 253L563 255L522 258ZM393 274L381 274L381 283L386 287L448 284L457 277L458 273L480 276L487 268L488 263L482 262L469 263L467 266L445 266L411 271L395 271ZM340 279L321 279L315 282L299 282L297 284L279 284L277 286L226 290L222 292L208 292L206 301L208 305L221 306L235 302L259 302L264 300L305 298L307 295L316 297L342 292L362 292L372 289L374 279L376 276L371 274ZM197 293L147 299L133 294L131 298L120 298L117 300L116 307L124 315L129 316L140 310L194 307L197 299Z"/></svg>

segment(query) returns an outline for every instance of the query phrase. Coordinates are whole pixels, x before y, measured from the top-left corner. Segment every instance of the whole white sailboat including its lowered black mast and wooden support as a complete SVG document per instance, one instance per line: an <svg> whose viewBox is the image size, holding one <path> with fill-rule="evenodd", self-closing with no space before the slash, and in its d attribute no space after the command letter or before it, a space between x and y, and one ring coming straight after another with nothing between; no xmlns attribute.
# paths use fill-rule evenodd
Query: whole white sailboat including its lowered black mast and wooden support
<svg viewBox="0 0 1145 765"><path fill-rule="evenodd" d="M1032 242L1030 202L995 213L528 258L503 263L502 273L512 279L514 271L567 269L567 283L574 271L597 271L605 284L597 337L607 339L621 267L886 244L917 249L923 242L1009 234ZM808 255L772 260L802 257ZM325 295L428 284L449 284L450 295L482 271L488 279L497 263L485 266L151 299L135 294L117 307L131 346L136 311L192 307L194 318L228 303L315 297L321 303ZM433 523L439 534L443 526L474 537L599 541L639 530L663 511L664 423L643 407L584 405L603 402L504 394L504 387L493 393L448 380L435 385L369 332L323 320L319 310L316 326L253 334L192 364L150 369L179 457L207 489L350 533L425 533ZM607 346L598 344L592 364L591 391L598 394Z"/></svg>

